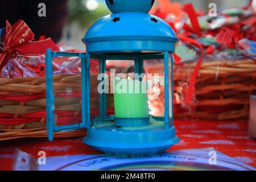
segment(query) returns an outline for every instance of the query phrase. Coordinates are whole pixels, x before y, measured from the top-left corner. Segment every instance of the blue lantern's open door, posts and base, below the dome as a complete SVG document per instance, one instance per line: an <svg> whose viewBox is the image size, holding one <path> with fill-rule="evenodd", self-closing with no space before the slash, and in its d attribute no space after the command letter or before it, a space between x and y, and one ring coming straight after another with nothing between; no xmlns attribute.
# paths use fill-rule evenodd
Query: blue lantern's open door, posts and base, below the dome
<svg viewBox="0 0 256 182"><path fill-rule="evenodd" d="M81 92L82 92L82 122L74 125L54 126L54 96L53 96L53 80L52 80L52 57L57 56L76 56L81 59ZM127 131L126 133L122 129L118 129L115 126L109 127L105 131L100 129L92 129L94 122L113 121L113 116L106 115L106 93L100 94L99 108L100 115L96 119L90 119L90 58L100 60L100 73L106 71L106 60L134 60L135 73L143 73L143 61L147 59L164 59L164 117L153 117L157 121L164 122L163 130L138 130ZM170 63L169 63L170 62ZM169 70L169 64L172 65L172 59L170 61L170 52L164 51L160 54L153 55L104 55L104 54L91 54L90 53L69 53L69 52L51 52L49 49L46 56L46 96L47 96L47 131L48 139L53 140L53 133L57 131L67 131L86 128L87 136L83 142L97 148L100 151L104 151L110 154L118 155L134 155L134 154L155 154L166 150L173 144L179 141L179 138L175 135L175 127L172 125L173 118L170 118L170 103L169 97L172 101L172 92L169 94L169 83L171 84L172 91L172 69ZM172 67L171 67L172 68ZM171 76L169 77L169 74ZM171 110L172 112L172 110ZM173 114L171 113L173 116ZM132 118L131 118L132 119ZM115 132L113 132L115 129ZM118 131L122 131L119 133ZM124 137L121 137L124 136ZM102 140L103 139L103 140ZM128 139L130 142L127 142ZM140 140L138 142L138 140ZM113 142L115 141L115 142ZM108 147L106 147L108 146Z"/></svg>

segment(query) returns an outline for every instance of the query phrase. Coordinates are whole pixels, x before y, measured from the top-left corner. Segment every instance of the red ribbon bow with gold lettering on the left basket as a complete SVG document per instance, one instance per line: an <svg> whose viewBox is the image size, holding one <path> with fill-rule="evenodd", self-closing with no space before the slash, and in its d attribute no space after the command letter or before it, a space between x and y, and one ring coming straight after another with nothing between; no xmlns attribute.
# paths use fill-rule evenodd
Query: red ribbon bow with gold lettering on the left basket
<svg viewBox="0 0 256 182"><path fill-rule="evenodd" d="M48 48L59 51L59 47L51 38L33 41L34 34L23 20L18 20L13 26L6 21L6 36L3 40L4 47L0 49L0 70L5 67L11 57L19 53L24 56L44 55Z"/></svg>

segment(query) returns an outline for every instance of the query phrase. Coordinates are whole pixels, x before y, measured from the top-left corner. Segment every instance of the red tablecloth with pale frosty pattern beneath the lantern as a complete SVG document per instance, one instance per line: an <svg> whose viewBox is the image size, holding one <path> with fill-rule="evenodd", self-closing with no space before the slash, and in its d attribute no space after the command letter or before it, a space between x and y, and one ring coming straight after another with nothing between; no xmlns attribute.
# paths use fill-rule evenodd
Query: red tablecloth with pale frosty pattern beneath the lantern
<svg viewBox="0 0 256 182"><path fill-rule="evenodd" d="M181 121L175 120L180 142L169 150L214 147L216 150L256 168L256 140L247 135L245 121ZM100 154L81 142L82 138L16 139L0 142L0 170L11 170L15 148L38 157L39 151L47 156Z"/></svg>

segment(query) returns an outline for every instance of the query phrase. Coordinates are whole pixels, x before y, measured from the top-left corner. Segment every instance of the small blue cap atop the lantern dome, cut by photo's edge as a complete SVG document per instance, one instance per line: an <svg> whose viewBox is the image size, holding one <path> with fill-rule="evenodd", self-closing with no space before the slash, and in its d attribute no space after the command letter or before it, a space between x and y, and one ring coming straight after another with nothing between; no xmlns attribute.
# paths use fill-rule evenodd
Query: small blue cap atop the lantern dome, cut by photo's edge
<svg viewBox="0 0 256 182"><path fill-rule="evenodd" d="M106 5L112 13L120 13L123 11L139 11L148 13L155 0L105 0Z"/></svg>

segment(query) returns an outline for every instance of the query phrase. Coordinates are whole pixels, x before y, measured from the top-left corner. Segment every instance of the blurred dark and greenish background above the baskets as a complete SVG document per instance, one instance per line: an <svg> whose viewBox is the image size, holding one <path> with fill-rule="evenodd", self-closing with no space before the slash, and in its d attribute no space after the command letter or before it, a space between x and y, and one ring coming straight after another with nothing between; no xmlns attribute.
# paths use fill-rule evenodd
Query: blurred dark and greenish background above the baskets
<svg viewBox="0 0 256 182"><path fill-rule="evenodd" d="M152 11L170 0L156 0ZM38 16L38 4L46 4L46 17ZM249 0L172 0L172 3L193 3L196 10L208 12L209 3L216 3L217 11L230 7L246 6ZM84 49L81 42L86 30L98 18L110 14L105 0L8 0L0 2L0 28L6 19L11 24L23 19L35 34L51 37L55 42L65 42Z"/></svg>

